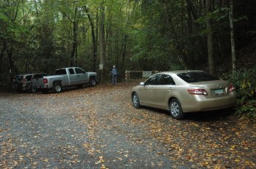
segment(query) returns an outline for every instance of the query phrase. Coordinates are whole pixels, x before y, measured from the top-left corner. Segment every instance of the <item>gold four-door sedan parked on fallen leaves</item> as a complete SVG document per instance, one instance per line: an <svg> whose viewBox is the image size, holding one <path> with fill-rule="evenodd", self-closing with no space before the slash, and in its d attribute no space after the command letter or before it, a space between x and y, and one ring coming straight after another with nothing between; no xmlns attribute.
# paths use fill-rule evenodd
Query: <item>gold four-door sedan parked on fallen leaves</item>
<svg viewBox="0 0 256 169"><path fill-rule="evenodd" d="M236 105L231 82L204 71L167 71L154 74L132 88L135 108L149 106L170 111L174 119L184 113L226 109Z"/></svg>

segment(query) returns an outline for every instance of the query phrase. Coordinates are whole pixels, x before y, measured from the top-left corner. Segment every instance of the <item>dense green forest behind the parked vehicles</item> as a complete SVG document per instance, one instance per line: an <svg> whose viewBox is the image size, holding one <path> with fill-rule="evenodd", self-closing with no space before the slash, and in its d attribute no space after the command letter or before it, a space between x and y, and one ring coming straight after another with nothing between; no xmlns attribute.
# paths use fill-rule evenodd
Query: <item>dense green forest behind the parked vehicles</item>
<svg viewBox="0 0 256 169"><path fill-rule="evenodd" d="M68 66L104 82L116 65L119 81L125 70L225 74L242 102L255 99L255 63L237 55L255 44L255 7L252 0L1 0L1 88L16 74Z"/></svg>

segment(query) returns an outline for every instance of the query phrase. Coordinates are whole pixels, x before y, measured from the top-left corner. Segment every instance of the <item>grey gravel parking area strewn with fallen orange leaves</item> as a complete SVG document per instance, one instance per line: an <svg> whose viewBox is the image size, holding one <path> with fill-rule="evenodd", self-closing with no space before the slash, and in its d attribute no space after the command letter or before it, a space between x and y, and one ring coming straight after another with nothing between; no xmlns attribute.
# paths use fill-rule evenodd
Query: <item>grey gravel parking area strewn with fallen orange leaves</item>
<svg viewBox="0 0 256 169"><path fill-rule="evenodd" d="M0 168L256 168L253 122L135 109L133 85L0 93Z"/></svg>

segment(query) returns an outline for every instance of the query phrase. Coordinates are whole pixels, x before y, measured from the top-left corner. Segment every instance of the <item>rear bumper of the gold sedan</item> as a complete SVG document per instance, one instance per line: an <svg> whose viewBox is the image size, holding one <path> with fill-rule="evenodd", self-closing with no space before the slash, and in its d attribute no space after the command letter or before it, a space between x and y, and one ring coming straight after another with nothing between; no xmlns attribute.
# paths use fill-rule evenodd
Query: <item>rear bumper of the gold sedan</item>
<svg viewBox="0 0 256 169"><path fill-rule="evenodd" d="M236 93L219 98L203 98L202 95L197 95L192 100L193 101L190 103L181 104L182 110L185 113L195 111L214 111L236 106Z"/></svg>

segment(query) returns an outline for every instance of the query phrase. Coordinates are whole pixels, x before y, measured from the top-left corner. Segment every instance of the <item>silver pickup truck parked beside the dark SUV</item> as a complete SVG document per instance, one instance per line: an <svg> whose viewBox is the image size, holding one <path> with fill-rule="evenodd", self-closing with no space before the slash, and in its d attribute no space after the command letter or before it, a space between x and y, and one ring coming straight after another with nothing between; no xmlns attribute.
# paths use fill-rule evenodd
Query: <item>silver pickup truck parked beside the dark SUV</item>
<svg viewBox="0 0 256 169"><path fill-rule="evenodd" d="M44 76L42 84L36 84L34 87L42 93L48 93L49 90L53 90L54 93L61 93L63 87L83 87L83 84L95 86L97 73L84 71L78 67L69 67L57 69L53 76Z"/></svg>

